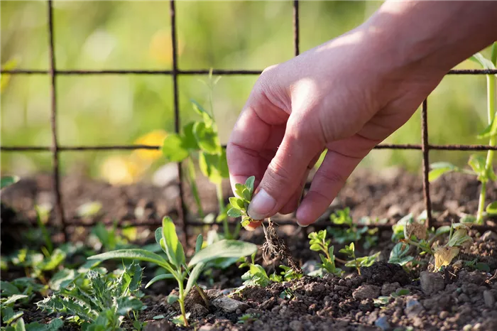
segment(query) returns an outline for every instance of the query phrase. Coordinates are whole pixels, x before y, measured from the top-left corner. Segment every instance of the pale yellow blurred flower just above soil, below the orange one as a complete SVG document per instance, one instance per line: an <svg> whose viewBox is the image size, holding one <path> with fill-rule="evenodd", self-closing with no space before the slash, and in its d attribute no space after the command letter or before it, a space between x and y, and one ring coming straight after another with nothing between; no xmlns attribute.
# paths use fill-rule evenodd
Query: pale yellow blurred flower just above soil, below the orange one
<svg viewBox="0 0 497 331"><path fill-rule="evenodd" d="M112 185L136 183L143 168L131 161L128 156L110 156L100 166L100 175Z"/></svg>

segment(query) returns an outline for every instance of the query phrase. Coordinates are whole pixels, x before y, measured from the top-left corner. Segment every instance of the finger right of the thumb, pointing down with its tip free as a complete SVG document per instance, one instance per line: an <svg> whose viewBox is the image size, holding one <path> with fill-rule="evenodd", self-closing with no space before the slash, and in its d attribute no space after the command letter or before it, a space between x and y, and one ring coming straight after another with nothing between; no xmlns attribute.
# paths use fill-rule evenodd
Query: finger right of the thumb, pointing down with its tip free
<svg viewBox="0 0 497 331"><path fill-rule="evenodd" d="M337 151L328 151L317 170L309 192L297 209L297 223L307 227L320 217L344 186L362 157L346 156Z"/></svg>

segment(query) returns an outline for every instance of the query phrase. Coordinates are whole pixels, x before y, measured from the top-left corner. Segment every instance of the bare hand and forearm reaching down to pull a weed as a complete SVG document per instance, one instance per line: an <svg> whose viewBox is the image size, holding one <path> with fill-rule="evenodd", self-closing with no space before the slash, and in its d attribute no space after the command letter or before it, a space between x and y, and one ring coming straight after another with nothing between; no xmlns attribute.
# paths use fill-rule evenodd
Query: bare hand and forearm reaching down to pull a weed
<svg viewBox="0 0 497 331"><path fill-rule="evenodd" d="M226 150L231 185L256 176L249 216L296 210L301 226L315 222L362 158L494 40L497 1L386 1L349 33L264 70Z"/></svg>

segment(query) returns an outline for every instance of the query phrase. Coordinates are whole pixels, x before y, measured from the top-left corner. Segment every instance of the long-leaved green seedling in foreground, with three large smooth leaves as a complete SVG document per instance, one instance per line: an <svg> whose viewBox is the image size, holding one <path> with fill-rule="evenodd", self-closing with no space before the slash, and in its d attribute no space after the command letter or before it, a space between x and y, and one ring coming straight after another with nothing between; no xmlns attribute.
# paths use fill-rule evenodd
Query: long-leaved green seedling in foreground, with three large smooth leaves
<svg viewBox="0 0 497 331"><path fill-rule="evenodd" d="M190 262L186 262L185 251L176 234L175 224L170 217L163 218L163 226L155 230L155 241L158 242L160 248L165 253L158 255L145 249L119 249L109 251L107 253L90 256L88 259L96 259L100 261L108 259L133 259L136 261L146 261L156 264L165 269L166 273L160 274L153 278L146 287L151 286L156 281L164 279L175 279L178 282L179 295L169 295L169 303L178 301L180 304L181 316L183 325L188 325L188 320L185 311L185 298L187 294L195 286L200 292L202 298L207 300L204 293L197 286L197 278L200 276L204 267L209 261L218 258L229 258L240 256L248 256L257 251L255 244L241 242L237 240L224 239L202 249L203 237L202 234L197 237L195 245L195 255L192 256ZM186 286L185 286L185 281Z"/></svg>

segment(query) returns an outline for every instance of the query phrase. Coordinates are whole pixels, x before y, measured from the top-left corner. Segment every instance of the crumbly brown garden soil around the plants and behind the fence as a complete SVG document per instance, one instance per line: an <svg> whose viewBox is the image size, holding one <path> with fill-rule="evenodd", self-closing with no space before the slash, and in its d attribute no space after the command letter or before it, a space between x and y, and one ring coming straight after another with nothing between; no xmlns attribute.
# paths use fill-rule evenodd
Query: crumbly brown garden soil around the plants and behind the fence
<svg viewBox="0 0 497 331"><path fill-rule="evenodd" d="M204 194L210 198L204 200L204 207L207 211L213 211L217 205L215 200L212 200L215 196L213 188L211 185L202 187ZM226 192L231 194L228 187L229 185L226 185ZM62 181L65 212L70 219L76 215L80 205L94 200L102 202L103 213L108 217L133 219L134 210L141 206L146 210L142 220L160 219L165 214L175 213L175 198L170 194L175 188L174 184L168 188L150 185L113 188L76 177L64 178ZM2 191L0 200L6 202L6 206L13 207L18 214L4 207L0 214L4 224L0 229L8 228L6 222L16 223L19 219L32 217L33 203L48 199L49 190L50 180L48 176L42 175L35 179L23 180L13 188ZM431 192L432 205L434 210L439 212L437 216L440 219L457 220L455 215L460 212L476 212L479 183L474 178L449 174L433 183ZM489 185L487 195L488 201L497 200L495 184ZM192 202L192 199L188 197L187 201ZM356 173L340 192L327 214L322 217L322 222L327 222L325 219L329 213L343 207L351 207L354 220L370 216L385 217L393 222L408 212L416 215L424 210L422 183L417 176L397 170L376 175L367 172ZM494 222L488 221L488 224ZM276 227L276 230L298 266L302 267L305 262L319 259L317 252L308 249L307 232L312 231L311 227L302 229L280 226ZM9 232L4 231L4 235L6 234ZM390 239L391 232L383 231L378 234L378 246L362 249L361 243L356 245L359 256L381 251L379 260L383 261L371 268L362 269L361 276L351 269L346 269L348 276L344 278L305 277L299 281L273 283L266 288L246 288L241 293L232 295L232 298L246 305L231 313L226 313L214 305L206 308L202 300L191 298L187 303L187 310L192 313L191 330L381 330L379 327L386 328L386 323L390 327L388 330L394 330L396 327L397 330L409 330L408 327L411 327L411 330L495 330L497 235L488 232L484 236L486 240L482 240L477 232L471 232L471 235L474 237L474 244L464 249L454 261L477 259L488 265L490 273L468 267L457 270L448 268L443 274L430 276L437 278L434 281L430 278L430 283L438 282L437 291L430 293L426 288L423 291L425 286L421 286L420 271L425 270L426 265L406 273L403 268L386 264L394 243ZM256 232L242 232L241 238L257 244L264 242L262 229ZM338 249L339 245L335 245L335 252ZM344 256L337 254L337 257ZM273 264L265 264L261 256L257 259L257 263L264 265L268 273L275 271L279 260L272 262ZM229 293L229 288L241 286L240 276L245 271L246 269L240 270L236 266L222 271L214 270L214 283L209 283L207 279L202 279L202 282L208 288L227 288L228 290L224 291L226 294ZM148 309L141 313L140 320L148 321L148 330L178 329L167 321L167 318L178 314L177 308L165 303L165 295L169 293L170 286L171 283L166 286L158 284L153 286L151 291L146 291L147 295L143 301L148 305ZM373 297L380 295L378 288L382 295L388 295L388 291L395 291L398 287L408 289L409 294L391 298L383 305L374 302ZM217 290L208 291L211 299L219 293ZM25 308L27 322L46 322L50 319L35 310L34 306ZM239 318L244 314L251 314L253 318L239 323ZM157 315L164 315L165 319L153 320ZM67 326L64 330L72 328Z"/></svg>

